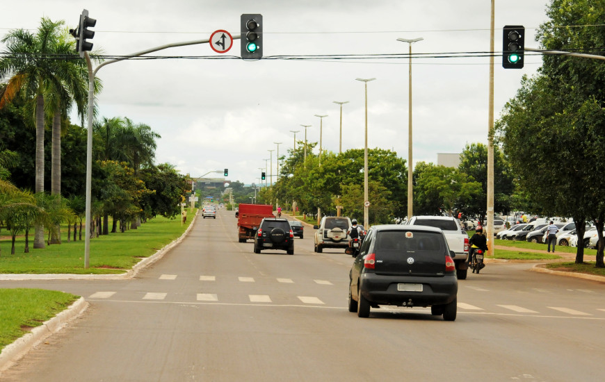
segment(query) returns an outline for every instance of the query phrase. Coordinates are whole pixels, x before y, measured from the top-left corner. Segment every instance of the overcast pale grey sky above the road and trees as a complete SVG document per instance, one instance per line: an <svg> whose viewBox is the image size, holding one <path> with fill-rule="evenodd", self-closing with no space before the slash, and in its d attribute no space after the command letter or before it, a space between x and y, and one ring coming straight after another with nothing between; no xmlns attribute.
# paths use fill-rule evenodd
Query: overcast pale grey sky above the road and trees
<svg viewBox="0 0 605 382"><path fill-rule="evenodd" d="M86 8L97 19L92 42L106 55L127 55L174 42L207 39L224 29L239 35L242 13L261 13L264 56L407 53L397 38L424 38L413 53L485 52L490 49L490 0L22 0L2 7L0 35L35 29L41 17L76 26ZM501 28L526 27L526 46L538 48L536 28L546 21L549 0L496 0L495 50ZM0 50L4 47L0 43ZM155 56L239 56L240 43L220 55L209 44L166 49ZM495 59L495 113L514 97L524 74L540 66L526 56L521 70ZM209 60L171 58L106 65L99 115L129 117L161 135L158 163L201 176L229 169L229 180L258 182L265 159L280 156L296 140L339 149L364 147L364 83L368 83L369 147L393 149L408 158L408 58L361 60ZM489 58L412 60L413 162L437 163L437 153L459 153L465 144L487 142ZM77 121L77 119L74 119ZM271 172L271 170L269 170ZM222 174L216 174L222 176Z"/></svg>

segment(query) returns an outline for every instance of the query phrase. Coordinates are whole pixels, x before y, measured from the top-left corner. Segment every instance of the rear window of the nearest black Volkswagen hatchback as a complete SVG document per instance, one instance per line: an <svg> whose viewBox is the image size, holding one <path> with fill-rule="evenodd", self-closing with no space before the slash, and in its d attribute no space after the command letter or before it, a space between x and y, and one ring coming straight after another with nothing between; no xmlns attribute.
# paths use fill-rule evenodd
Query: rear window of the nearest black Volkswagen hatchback
<svg viewBox="0 0 605 382"><path fill-rule="evenodd" d="M434 220L433 220L434 221ZM442 233L418 231L382 231L376 235L376 251L444 252Z"/></svg>

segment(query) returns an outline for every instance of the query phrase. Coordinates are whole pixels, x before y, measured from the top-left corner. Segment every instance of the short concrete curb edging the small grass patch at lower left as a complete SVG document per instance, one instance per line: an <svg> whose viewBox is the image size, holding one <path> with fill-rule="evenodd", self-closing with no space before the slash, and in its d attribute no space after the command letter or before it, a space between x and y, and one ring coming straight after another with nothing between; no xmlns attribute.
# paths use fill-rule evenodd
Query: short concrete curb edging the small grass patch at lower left
<svg viewBox="0 0 605 382"><path fill-rule="evenodd" d="M80 297L74 304L63 310L63 312L43 322L42 325L31 329L23 337L17 338L15 342L4 347L0 353L0 376L1 372L13 366L31 348L63 329L73 319L79 317L86 308L88 308L88 302L83 297Z"/></svg>

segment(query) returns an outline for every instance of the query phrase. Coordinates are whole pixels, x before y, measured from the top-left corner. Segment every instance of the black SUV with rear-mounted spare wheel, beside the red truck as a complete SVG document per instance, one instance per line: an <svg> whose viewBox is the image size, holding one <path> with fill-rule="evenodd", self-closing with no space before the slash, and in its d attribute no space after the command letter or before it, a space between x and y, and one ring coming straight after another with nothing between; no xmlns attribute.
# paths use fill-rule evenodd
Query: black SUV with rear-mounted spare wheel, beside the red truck
<svg viewBox="0 0 605 382"><path fill-rule="evenodd" d="M281 249L294 254L294 234L288 219L266 217L255 235L255 254L263 249Z"/></svg>

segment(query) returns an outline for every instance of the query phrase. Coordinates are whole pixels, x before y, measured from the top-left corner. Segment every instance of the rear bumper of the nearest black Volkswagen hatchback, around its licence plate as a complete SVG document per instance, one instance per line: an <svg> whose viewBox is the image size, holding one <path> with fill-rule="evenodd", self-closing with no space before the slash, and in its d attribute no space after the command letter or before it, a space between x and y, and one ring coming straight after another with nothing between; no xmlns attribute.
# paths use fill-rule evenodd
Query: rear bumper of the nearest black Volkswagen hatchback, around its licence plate
<svg viewBox="0 0 605 382"><path fill-rule="evenodd" d="M400 292L399 283L422 284L422 292ZM441 277L381 276L363 273L360 294L371 304L398 306L432 306L449 304L458 294L455 274Z"/></svg>

